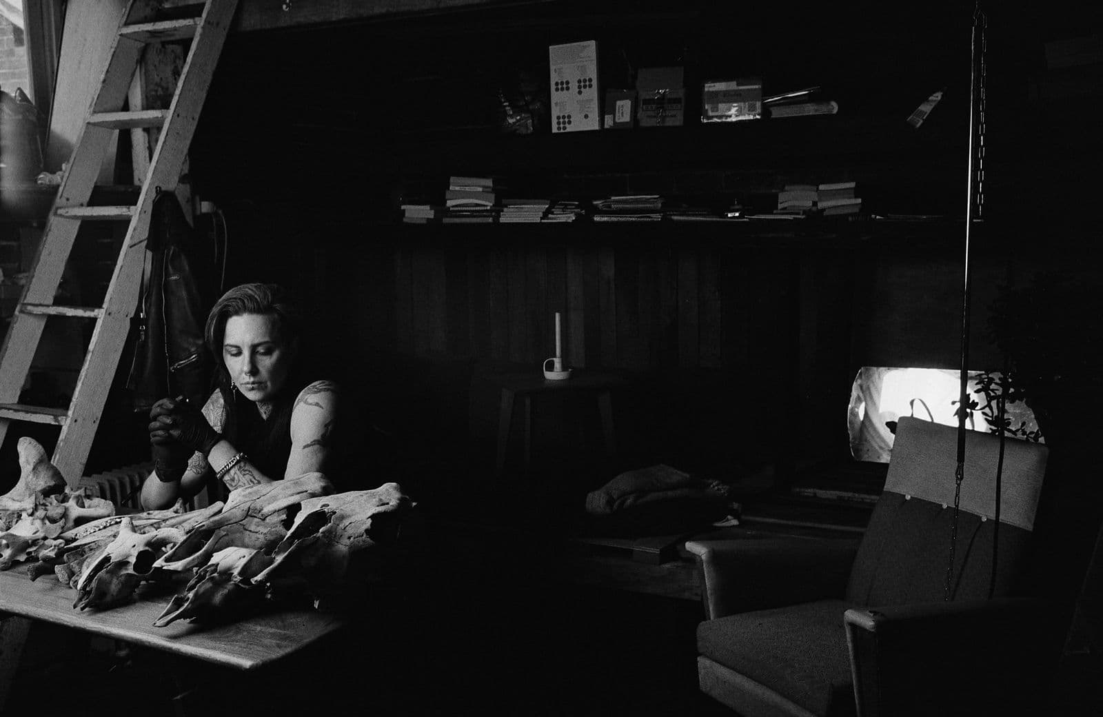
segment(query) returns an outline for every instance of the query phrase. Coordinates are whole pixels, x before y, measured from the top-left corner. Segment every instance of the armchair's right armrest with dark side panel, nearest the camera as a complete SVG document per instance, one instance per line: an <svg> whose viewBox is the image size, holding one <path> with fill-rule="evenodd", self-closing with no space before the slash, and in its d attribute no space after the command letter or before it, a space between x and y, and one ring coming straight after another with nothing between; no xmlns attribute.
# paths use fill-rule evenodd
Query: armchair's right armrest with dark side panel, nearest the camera
<svg viewBox="0 0 1103 717"><path fill-rule="evenodd" d="M1046 609L1000 598L847 610L858 715L1043 714L1030 700L1049 676Z"/></svg>

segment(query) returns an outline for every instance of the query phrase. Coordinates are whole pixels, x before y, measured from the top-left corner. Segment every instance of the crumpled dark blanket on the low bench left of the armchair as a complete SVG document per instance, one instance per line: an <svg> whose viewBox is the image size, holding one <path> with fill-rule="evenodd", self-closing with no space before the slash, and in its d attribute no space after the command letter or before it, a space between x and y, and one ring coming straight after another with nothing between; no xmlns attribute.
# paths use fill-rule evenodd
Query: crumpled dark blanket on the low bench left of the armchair
<svg viewBox="0 0 1103 717"><path fill-rule="evenodd" d="M586 512L610 515L628 507L664 501L696 499L726 504L728 486L706 481L660 463L625 471L586 496Z"/></svg>

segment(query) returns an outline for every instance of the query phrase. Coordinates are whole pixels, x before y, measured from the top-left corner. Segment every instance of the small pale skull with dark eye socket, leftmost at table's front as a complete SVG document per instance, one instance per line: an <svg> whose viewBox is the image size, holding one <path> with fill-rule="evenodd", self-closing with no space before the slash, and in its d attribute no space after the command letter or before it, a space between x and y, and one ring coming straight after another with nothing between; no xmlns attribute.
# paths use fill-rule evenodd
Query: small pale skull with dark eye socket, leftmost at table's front
<svg viewBox="0 0 1103 717"><path fill-rule="evenodd" d="M105 609L129 600L138 584L151 576L164 549L183 539L183 532L176 528L137 533L133 522L124 518L118 536L84 564L73 607Z"/></svg>

